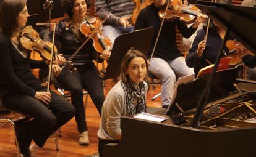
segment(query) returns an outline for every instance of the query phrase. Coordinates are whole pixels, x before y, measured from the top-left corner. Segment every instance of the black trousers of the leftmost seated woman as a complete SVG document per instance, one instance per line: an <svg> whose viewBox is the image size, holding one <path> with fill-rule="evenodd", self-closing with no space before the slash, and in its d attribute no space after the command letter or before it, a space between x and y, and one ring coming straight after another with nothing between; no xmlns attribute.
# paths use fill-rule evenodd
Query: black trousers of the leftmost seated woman
<svg viewBox="0 0 256 157"><path fill-rule="evenodd" d="M22 94L8 95L2 102L6 108L34 118L19 124L19 127L26 130L19 136L28 141L28 146L33 139L36 145L43 147L48 137L75 115L75 108L53 91L49 108L40 100Z"/></svg>

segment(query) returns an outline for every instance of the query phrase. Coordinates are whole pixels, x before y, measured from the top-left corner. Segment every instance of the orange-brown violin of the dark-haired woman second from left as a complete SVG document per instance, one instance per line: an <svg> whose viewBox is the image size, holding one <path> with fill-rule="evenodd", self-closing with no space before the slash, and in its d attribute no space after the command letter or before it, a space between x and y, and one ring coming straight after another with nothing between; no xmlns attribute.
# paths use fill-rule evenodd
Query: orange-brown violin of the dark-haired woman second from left
<svg viewBox="0 0 256 157"><path fill-rule="evenodd" d="M91 36L93 30L95 30L95 28L101 25L102 23L100 22L100 19L96 17L88 17L87 20L85 20L80 25L80 31L86 37L92 38L93 47L99 54L102 54L104 50L109 50L112 47L112 42L110 41L110 39L103 36L102 29L96 30L96 32Z"/></svg>

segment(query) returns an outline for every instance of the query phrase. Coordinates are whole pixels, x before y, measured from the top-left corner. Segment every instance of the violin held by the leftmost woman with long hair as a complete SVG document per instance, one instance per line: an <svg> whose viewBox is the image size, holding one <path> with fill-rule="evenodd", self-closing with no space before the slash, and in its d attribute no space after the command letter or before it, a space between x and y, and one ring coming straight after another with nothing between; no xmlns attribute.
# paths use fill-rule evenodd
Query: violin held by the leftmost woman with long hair
<svg viewBox="0 0 256 157"><path fill-rule="evenodd" d="M40 57L44 58L45 60L51 60L51 47L53 46L49 41L43 41L40 38L39 33L32 28L32 26L25 26L22 32L19 34L19 46L23 49L31 50L38 52ZM54 46L54 55L58 55L57 48ZM65 62L71 69L72 63Z"/></svg>

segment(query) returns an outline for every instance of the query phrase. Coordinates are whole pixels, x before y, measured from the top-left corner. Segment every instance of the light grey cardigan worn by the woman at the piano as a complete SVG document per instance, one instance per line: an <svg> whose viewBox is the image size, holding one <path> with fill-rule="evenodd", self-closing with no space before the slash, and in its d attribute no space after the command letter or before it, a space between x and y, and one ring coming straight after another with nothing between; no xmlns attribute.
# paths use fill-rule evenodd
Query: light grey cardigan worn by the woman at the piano
<svg viewBox="0 0 256 157"><path fill-rule="evenodd" d="M143 83L148 91L147 83L145 81ZM116 140L117 134L121 132L121 116L126 116L126 93L119 81L109 91L103 103L98 137L102 140Z"/></svg>

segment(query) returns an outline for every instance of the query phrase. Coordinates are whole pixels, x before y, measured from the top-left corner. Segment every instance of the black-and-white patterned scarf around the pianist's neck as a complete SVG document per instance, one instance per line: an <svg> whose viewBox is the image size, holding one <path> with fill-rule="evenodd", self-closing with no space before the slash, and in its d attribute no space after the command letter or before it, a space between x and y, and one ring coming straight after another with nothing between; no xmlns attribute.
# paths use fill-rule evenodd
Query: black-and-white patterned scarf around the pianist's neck
<svg viewBox="0 0 256 157"><path fill-rule="evenodd" d="M121 81L121 86L126 92L126 116L134 116L134 114L142 113L146 111L146 86L143 82L137 86L130 79L127 83ZM137 105L135 100L137 99Z"/></svg>

